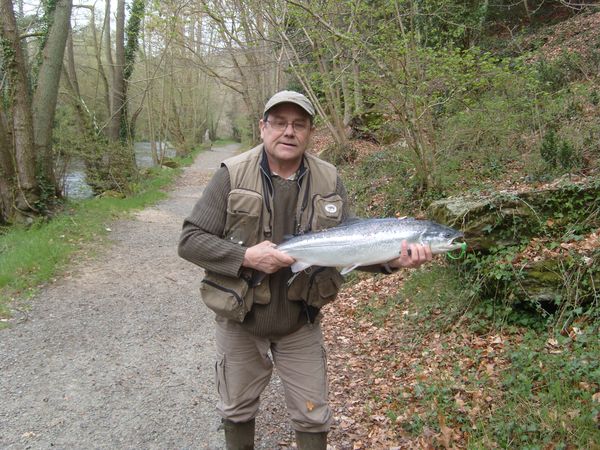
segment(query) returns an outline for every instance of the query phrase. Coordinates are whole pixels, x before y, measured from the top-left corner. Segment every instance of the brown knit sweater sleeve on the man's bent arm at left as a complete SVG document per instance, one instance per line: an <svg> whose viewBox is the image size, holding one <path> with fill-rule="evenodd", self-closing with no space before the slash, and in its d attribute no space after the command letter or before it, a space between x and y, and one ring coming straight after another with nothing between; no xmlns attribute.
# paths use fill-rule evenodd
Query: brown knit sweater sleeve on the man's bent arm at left
<svg viewBox="0 0 600 450"><path fill-rule="evenodd" d="M204 269L239 276L246 247L221 239L227 218L229 172L221 167L183 222L178 253Z"/></svg>

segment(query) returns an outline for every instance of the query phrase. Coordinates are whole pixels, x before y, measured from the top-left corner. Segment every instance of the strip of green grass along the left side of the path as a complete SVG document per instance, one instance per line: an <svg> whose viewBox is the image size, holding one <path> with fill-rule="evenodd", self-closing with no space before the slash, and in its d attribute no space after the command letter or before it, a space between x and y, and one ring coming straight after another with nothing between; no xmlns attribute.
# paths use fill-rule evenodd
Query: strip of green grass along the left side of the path
<svg viewBox="0 0 600 450"><path fill-rule="evenodd" d="M177 161L190 165L197 154ZM165 198L165 189L180 172L152 168L128 197L68 202L52 219L40 219L27 228L15 226L0 235L0 328L8 323L12 301L31 297L84 249L97 248L111 222Z"/></svg>

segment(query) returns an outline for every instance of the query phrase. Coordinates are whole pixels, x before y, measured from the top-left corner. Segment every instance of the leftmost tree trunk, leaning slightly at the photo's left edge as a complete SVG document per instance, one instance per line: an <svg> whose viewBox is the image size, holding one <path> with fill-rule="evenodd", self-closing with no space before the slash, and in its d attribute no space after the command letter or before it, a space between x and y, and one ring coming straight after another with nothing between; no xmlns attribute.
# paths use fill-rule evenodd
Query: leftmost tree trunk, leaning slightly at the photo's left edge
<svg viewBox="0 0 600 450"><path fill-rule="evenodd" d="M31 96L11 0L0 0L0 38L4 41L2 59L10 87L9 104L19 187L16 207L25 214L37 213L39 186L35 177Z"/></svg>

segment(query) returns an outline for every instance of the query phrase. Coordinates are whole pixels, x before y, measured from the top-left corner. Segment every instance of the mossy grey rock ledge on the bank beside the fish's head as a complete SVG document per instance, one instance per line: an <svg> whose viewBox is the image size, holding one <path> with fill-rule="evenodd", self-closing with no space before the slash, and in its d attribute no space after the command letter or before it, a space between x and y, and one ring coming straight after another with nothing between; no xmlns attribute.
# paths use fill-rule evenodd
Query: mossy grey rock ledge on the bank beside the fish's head
<svg viewBox="0 0 600 450"><path fill-rule="evenodd" d="M551 236L560 243L574 229L574 224L587 227L590 232L598 227L598 219L593 219L598 204L600 181L586 180L561 182L527 192L439 200L430 205L428 216L462 230L469 250L485 255L493 248L513 247L519 252L516 246L534 237ZM583 304L591 301L594 289L585 288L581 282L586 280L589 286L600 286L600 271L594 270L600 263L599 254L598 250L587 256L550 252L537 255L535 260L521 259L518 267L513 264L514 277L504 280L501 287L493 270L494 261L500 259L491 259L486 263L491 268L489 275L482 281L495 292L493 295L497 295L500 287L507 299L555 306L574 301ZM577 292L572 290L574 282Z"/></svg>

